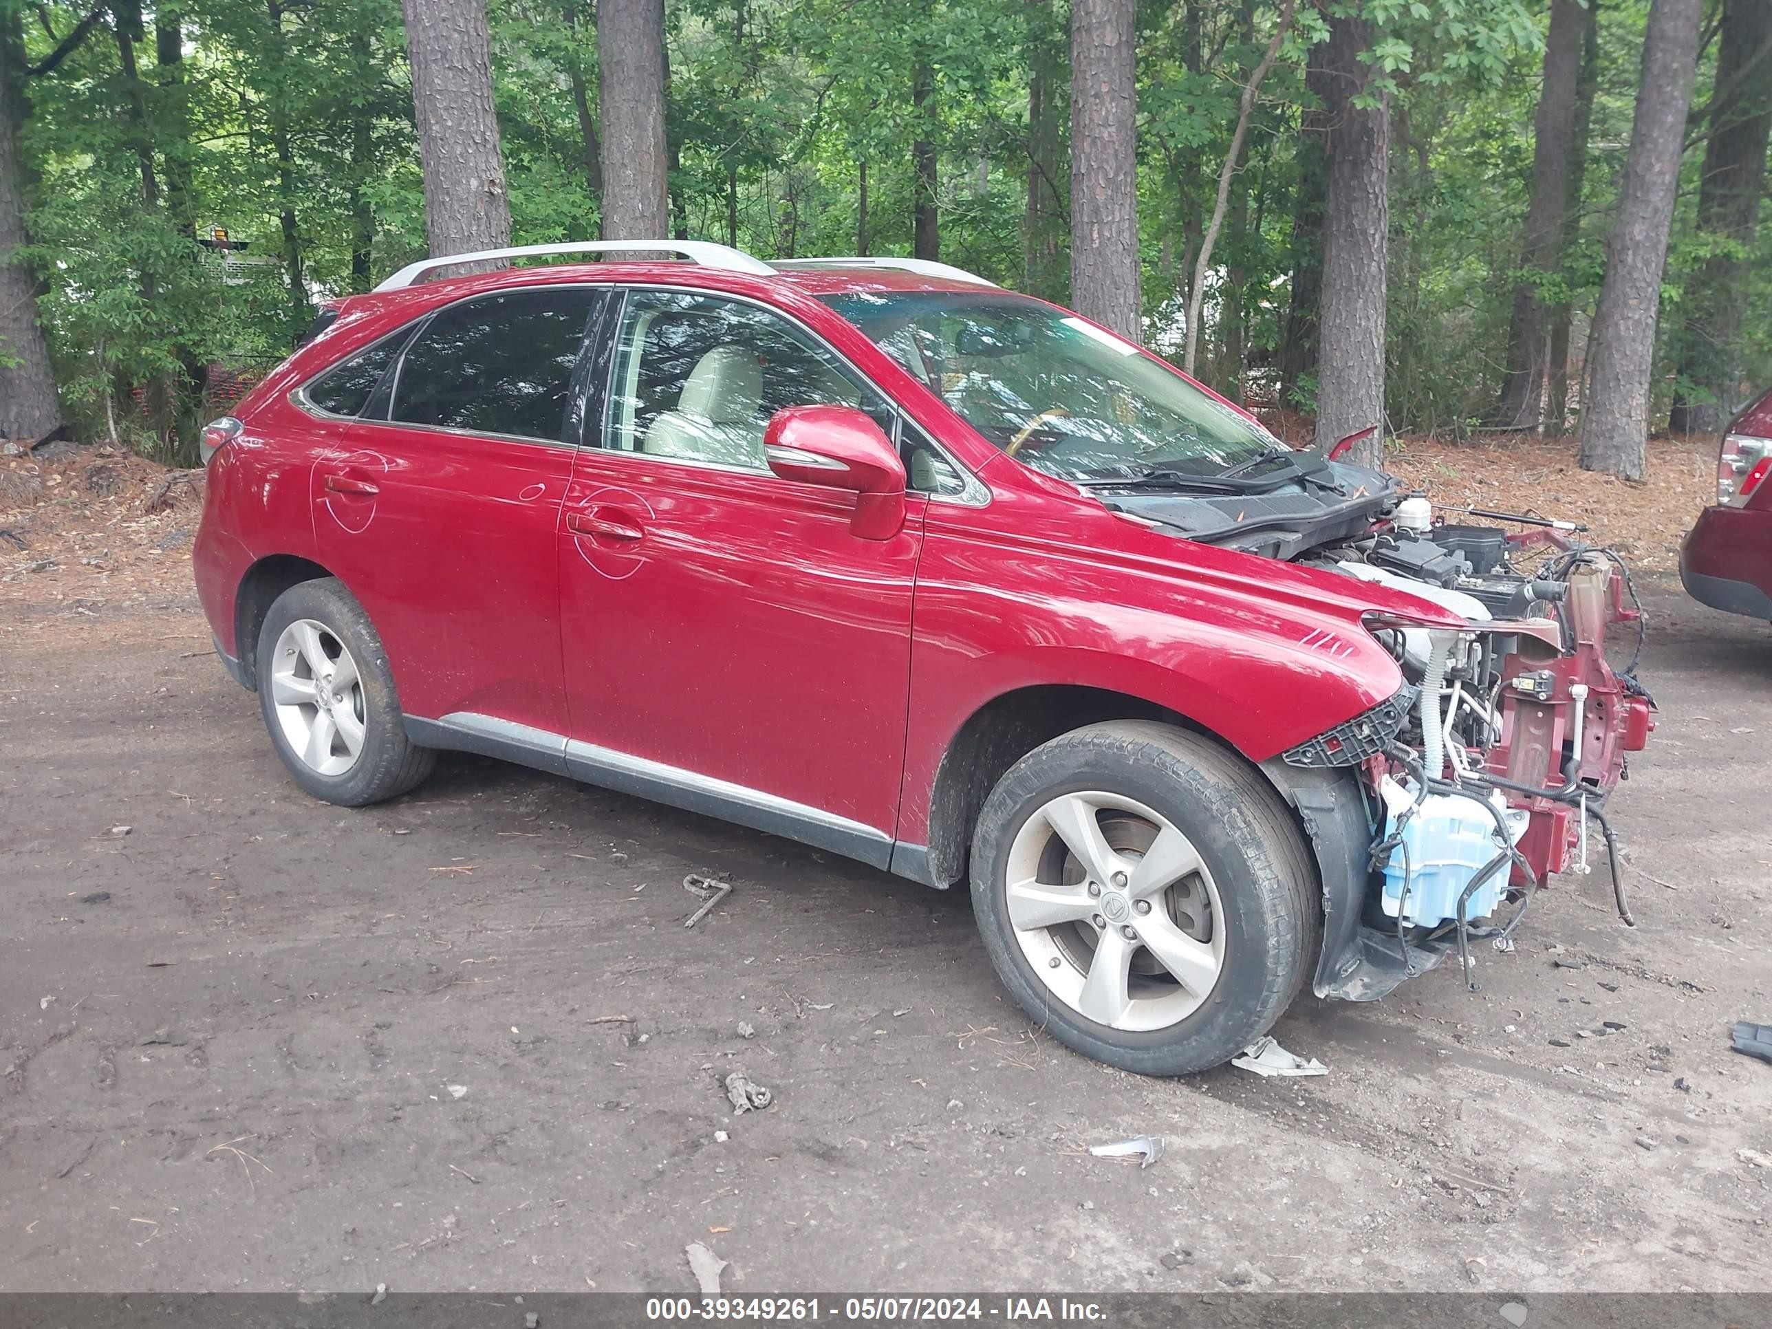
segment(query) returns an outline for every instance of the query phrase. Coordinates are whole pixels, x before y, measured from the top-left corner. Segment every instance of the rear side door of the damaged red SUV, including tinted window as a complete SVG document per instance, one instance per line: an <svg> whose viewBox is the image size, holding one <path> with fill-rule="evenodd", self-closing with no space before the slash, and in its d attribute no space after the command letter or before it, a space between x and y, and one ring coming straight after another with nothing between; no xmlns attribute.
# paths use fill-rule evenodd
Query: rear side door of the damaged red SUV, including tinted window
<svg viewBox="0 0 1772 1329"><path fill-rule="evenodd" d="M408 716L567 727L555 528L602 298L523 287L434 312L314 466L321 560L369 610Z"/></svg>

